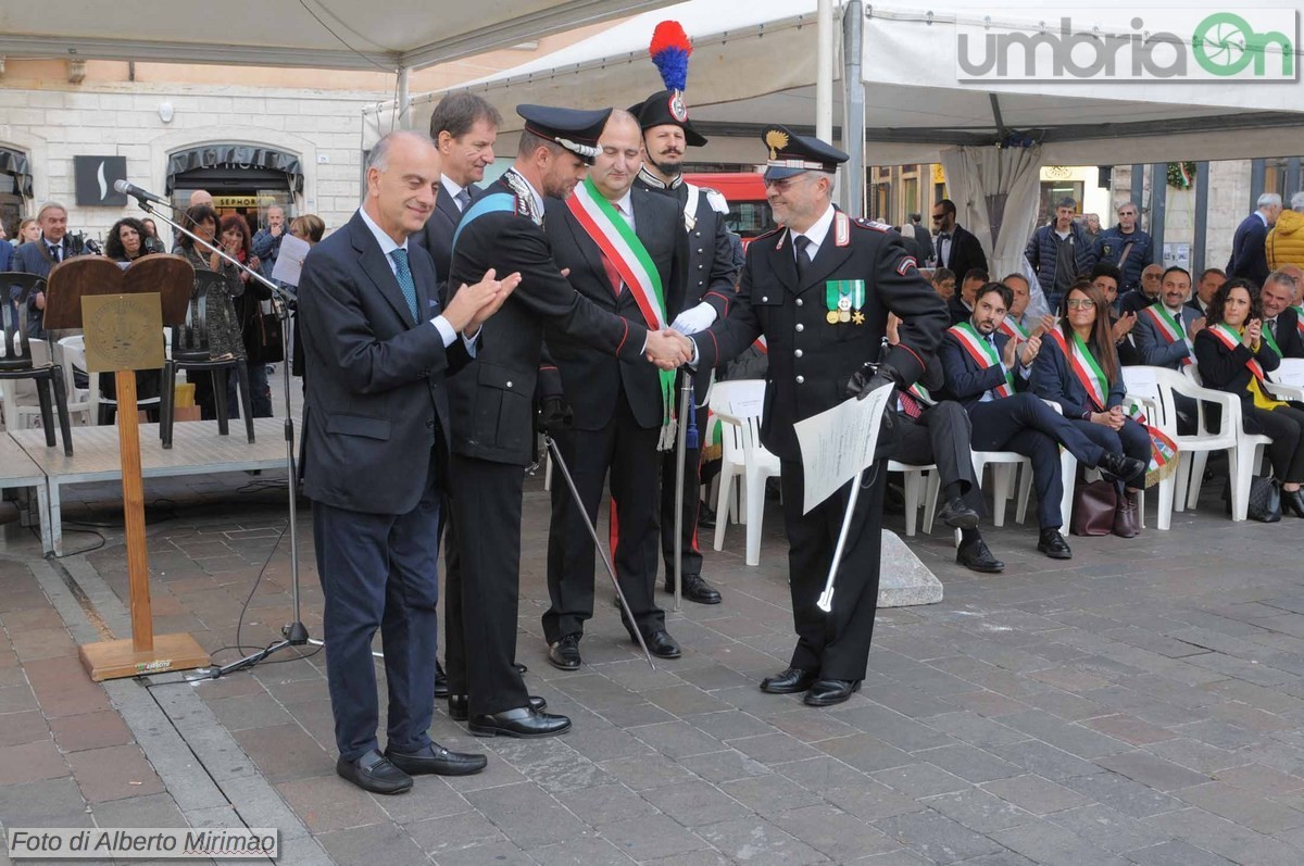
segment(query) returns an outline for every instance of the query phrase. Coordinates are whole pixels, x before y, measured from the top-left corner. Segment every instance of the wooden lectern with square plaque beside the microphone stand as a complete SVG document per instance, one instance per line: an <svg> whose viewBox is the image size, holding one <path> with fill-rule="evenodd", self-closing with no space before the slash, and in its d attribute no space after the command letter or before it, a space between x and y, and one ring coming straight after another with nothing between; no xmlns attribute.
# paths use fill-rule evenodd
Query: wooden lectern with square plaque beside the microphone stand
<svg viewBox="0 0 1304 866"><path fill-rule="evenodd" d="M192 635L154 634L136 410L136 370L163 366L163 325L185 321L193 288L194 269L180 256L145 256L126 270L106 258L72 258L50 273L46 327L82 329L87 372L112 372L117 383L132 636L82 644L82 666L95 681L209 664Z"/></svg>

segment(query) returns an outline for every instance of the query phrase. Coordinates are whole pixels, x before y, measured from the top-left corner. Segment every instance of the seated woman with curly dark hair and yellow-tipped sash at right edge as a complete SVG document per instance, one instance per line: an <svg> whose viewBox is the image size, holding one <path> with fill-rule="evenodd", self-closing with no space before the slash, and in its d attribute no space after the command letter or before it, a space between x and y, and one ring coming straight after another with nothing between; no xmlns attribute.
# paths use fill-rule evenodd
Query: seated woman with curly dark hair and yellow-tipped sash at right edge
<svg viewBox="0 0 1304 866"><path fill-rule="evenodd" d="M1273 399L1264 377L1282 353L1264 327L1258 287L1248 279L1223 283L1208 309L1209 325L1196 334L1196 363L1205 387L1240 396L1247 433L1271 437L1267 458L1282 485L1282 510L1304 518L1304 411Z"/></svg>

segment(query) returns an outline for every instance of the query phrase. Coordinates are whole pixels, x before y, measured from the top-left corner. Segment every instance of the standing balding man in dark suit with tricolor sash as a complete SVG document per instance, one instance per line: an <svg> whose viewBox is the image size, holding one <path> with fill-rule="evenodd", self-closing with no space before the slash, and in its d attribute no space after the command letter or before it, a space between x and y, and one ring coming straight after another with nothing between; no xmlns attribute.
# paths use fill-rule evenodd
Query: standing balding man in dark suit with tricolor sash
<svg viewBox="0 0 1304 866"><path fill-rule="evenodd" d="M635 187L643 130L619 108L597 142L588 179L565 202L548 202L548 240L580 296L649 330L669 326L683 306L687 236L672 198ZM580 664L579 640L593 616L595 550L585 520L596 522L610 473L612 560L632 622L652 655L677 659L656 604L661 453L675 445L675 373L619 360L574 335L548 330L574 429L556 434L584 501L582 514L565 484L552 488L544 638L549 661Z"/></svg>

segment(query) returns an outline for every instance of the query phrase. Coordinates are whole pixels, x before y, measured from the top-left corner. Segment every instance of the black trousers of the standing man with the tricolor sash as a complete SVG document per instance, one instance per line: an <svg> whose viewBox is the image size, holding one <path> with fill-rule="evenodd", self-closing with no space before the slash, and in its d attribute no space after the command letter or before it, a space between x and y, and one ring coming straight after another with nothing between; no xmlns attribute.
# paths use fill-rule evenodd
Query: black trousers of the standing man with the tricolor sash
<svg viewBox="0 0 1304 866"><path fill-rule="evenodd" d="M665 612L656 606L657 502L661 458L657 440L661 428L639 426L629 402L617 398L612 420L597 430L565 430L554 438L584 502L588 520L597 522L602 485L610 468L612 562L621 592L630 604L634 622L644 635L665 629ZM553 467L553 518L548 530L548 595L552 606L544 613L544 638L556 643L569 634L583 634L593 617L593 537L584 526L584 513Z"/></svg>

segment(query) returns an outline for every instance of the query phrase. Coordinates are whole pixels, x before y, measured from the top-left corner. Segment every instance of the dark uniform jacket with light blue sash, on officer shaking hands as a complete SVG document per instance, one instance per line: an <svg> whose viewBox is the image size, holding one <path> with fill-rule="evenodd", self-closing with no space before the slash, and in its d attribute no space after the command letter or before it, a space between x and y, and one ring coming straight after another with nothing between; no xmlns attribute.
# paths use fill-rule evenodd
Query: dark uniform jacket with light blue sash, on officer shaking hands
<svg viewBox="0 0 1304 866"><path fill-rule="evenodd" d="M493 198L497 197L497 198ZM496 210L499 205L503 210ZM463 215L452 249L450 295L480 280L490 267L520 271L522 282L502 309L481 329L485 346L450 383L456 454L496 463L528 466L535 441L533 396L540 374L544 325L587 340L622 360L643 356L643 318L622 318L582 297L561 275L544 230L529 218L529 205L498 180Z"/></svg>

